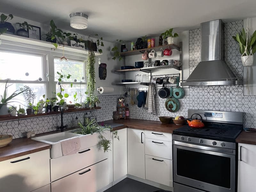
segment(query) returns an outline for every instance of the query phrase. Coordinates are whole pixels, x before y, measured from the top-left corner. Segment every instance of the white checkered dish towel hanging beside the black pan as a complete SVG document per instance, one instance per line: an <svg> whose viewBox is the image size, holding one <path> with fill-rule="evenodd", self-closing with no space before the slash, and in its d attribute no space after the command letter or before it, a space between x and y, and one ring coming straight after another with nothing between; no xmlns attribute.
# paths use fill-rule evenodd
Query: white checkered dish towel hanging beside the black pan
<svg viewBox="0 0 256 192"><path fill-rule="evenodd" d="M156 115L156 89L155 84L150 83L148 85L148 97L146 100L145 108L148 109L148 113Z"/></svg>

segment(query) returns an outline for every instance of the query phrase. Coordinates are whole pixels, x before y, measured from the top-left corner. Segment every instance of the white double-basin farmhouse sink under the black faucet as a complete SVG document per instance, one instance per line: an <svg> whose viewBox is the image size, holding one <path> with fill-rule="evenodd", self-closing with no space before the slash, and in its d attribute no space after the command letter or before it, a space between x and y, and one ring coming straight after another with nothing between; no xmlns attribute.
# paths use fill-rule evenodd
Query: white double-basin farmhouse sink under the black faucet
<svg viewBox="0 0 256 192"><path fill-rule="evenodd" d="M31 140L35 140L38 142L42 142L48 145L52 145L52 148L50 149L50 157L51 158L58 158L63 156L62 155L62 149L60 141L64 139L69 139L72 137L79 137L81 141L81 148L80 150L90 148L92 146L97 145L98 143L98 136L99 133L93 133L89 135L81 135L81 134L75 134L73 133L75 130L67 131L67 132L60 132L60 133L53 133L49 135L39 136L31 138ZM78 130L76 130L78 131ZM102 135L106 139L110 139L110 131L105 131L105 133L102 133Z"/></svg>

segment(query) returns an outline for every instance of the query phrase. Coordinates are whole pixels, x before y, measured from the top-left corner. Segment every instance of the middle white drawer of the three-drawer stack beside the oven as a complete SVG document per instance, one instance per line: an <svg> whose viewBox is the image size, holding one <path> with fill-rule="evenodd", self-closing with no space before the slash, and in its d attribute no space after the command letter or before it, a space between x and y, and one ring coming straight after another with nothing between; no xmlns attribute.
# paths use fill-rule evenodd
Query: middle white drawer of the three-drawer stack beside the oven
<svg viewBox="0 0 256 192"><path fill-rule="evenodd" d="M172 160L172 142L145 138L145 154Z"/></svg>

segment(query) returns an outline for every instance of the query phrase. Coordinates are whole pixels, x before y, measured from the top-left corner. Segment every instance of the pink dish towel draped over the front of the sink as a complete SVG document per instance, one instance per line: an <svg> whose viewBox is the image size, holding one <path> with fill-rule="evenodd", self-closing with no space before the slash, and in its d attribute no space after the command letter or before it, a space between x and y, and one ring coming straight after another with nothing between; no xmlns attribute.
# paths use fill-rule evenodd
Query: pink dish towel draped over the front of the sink
<svg viewBox="0 0 256 192"><path fill-rule="evenodd" d="M62 155L75 154L81 148L81 142L79 137L72 137L69 139L61 140Z"/></svg>

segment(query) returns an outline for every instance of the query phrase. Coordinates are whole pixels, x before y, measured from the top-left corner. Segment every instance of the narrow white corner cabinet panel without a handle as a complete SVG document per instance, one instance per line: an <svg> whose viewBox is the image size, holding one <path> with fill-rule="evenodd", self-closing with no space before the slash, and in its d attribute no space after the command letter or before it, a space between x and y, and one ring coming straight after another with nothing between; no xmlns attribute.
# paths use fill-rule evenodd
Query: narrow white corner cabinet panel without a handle
<svg viewBox="0 0 256 192"><path fill-rule="evenodd" d="M127 174L127 128L118 130L119 141L113 138L113 179Z"/></svg>

